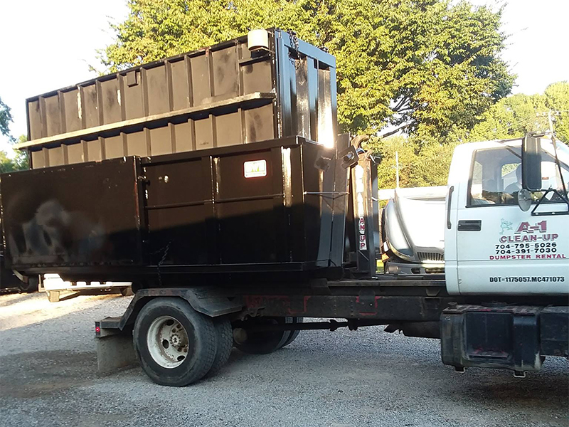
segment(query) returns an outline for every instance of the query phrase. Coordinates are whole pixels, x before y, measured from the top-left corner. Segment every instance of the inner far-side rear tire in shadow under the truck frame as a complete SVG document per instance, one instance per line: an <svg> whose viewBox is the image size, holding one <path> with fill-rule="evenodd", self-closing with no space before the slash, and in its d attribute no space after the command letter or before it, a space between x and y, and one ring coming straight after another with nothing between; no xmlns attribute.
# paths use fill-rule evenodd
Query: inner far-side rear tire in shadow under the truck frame
<svg viewBox="0 0 569 427"><path fill-rule="evenodd" d="M280 349L290 337L291 331L246 332L248 326L277 325L292 323L292 317L257 317L255 319L235 322L233 345L249 354L269 354ZM244 334L235 333L244 330Z"/></svg>

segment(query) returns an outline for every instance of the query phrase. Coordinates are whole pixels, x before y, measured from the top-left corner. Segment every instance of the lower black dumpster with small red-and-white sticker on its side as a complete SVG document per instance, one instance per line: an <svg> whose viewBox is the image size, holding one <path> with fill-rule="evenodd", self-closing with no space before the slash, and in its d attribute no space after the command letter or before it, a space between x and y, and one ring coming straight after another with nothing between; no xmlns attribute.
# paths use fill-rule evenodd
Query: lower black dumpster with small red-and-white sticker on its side
<svg viewBox="0 0 569 427"><path fill-rule="evenodd" d="M341 266L347 171L336 149L301 137L5 174L0 192L6 263L26 273L163 280Z"/></svg>

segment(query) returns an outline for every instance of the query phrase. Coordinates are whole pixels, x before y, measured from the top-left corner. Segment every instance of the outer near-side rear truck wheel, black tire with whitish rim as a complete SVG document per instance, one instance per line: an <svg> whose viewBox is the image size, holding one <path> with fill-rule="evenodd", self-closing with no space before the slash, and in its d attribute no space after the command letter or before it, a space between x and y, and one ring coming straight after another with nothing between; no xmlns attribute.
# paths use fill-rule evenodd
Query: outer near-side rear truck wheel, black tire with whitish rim
<svg viewBox="0 0 569 427"><path fill-rule="evenodd" d="M216 358L213 320L181 298L157 297L144 305L134 322L132 339L142 369L163 386L199 381Z"/></svg>

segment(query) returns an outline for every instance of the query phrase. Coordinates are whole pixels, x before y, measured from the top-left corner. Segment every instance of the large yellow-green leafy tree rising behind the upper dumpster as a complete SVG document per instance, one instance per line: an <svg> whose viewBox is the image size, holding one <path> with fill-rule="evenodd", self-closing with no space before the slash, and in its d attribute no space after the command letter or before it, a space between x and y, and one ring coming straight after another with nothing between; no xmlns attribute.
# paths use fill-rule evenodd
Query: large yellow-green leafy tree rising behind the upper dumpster
<svg viewBox="0 0 569 427"><path fill-rule="evenodd" d="M100 52L116 71L244 35L296 31L337 60L339 122L423 138L470 129L509 94L501 9L451 0L129 0L117 41Z"/></svg>

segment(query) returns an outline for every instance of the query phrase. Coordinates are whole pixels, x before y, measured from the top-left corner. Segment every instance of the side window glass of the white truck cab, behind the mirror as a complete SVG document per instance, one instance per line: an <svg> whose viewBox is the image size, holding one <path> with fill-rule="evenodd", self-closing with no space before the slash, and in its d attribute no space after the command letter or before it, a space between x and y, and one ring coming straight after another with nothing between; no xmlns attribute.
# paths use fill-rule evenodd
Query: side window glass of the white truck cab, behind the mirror
<svg viewBox="0 0 569 427"><path fill-rule="evenodd" d="M561 178L555 159L542 152L542 189L560 189ZM568 183L569 168L561 164L565 185ZM474 153L471 168L469 198L467 206L511 205L517 204L517 194L521 189L521 149L519 147L499 147L480 149ZM543 192L532 194L534 201ZM558 201L554 194L544 202Z"/></svg>

